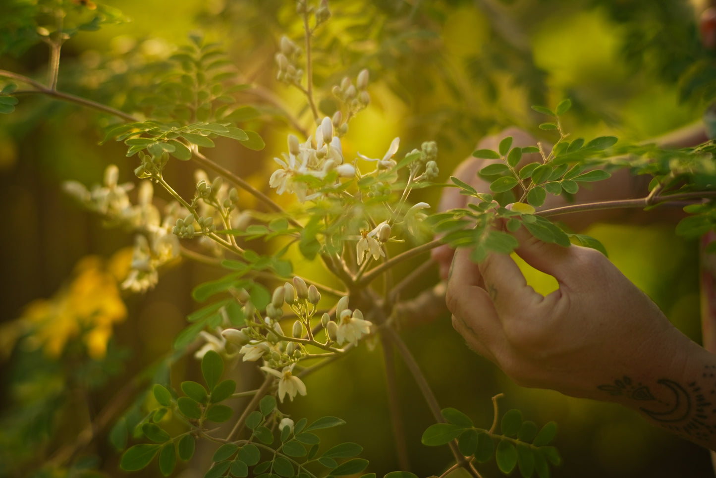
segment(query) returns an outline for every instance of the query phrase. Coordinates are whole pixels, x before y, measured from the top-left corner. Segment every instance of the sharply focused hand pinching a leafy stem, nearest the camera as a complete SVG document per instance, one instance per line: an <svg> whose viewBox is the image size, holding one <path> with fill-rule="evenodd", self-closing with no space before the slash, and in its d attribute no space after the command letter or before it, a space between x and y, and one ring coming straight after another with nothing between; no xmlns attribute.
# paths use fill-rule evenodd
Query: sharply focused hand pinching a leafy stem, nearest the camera
<svg viewBox="0 0 716 478"><path fill-rule="evenodd" d="M604 400L599 385L679 375L700 349L598 251L544 243L524 228L515 235L518 255L553 275L557 291L533 291L509 255L478 265L460 249L446 301L468 346L517 384Z"/></svg>

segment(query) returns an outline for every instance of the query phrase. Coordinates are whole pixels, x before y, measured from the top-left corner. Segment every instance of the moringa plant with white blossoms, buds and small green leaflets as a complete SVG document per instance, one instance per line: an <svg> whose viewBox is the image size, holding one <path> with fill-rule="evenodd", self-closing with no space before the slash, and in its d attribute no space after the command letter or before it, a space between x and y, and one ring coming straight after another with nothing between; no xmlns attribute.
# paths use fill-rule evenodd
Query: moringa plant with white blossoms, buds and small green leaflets
<svg viewBox="0 0 716 478"><path fill-rule="evenodd" d="M220 44L205 42L200 35L190 36L161 61L129 47L122 52L129 65L122 72L112 71L117 58L80 68L84 89L104 84L119 92L122 84L130 85L106 104L62 92L58 84L64 42L79 31L122 21L122 14L78 0L17 2L10 11L8 45L44 43L50 54L46 79L0 70L0 112L12 114L32 95L95 110L105 133L102 142L124 145L137 177L137 182L120 183L120 170L110 164L102 184L64 183L64 190L107 227L132 230L134 246L106 262L85 260L66 289L32 303L6 326L6 333L24 348L42 350L59 364L67 361L59 366L62 380L48 389L45 400L25 405L52 414L67 406L69 384L103 386L105 375L122 360L110 338L113 325L127 314L123 295L153 288L160 272L178 260L211 265L218 275L193 289L199 305L187 316L173 349L158 366L117 391L117 401L97 414L89 431L63 444L44 463L33 462L29 451L16 462L4 456L10 464L2 474L89 476L96 464L78 459L79 452L104 438L92 431L99 429L107 430L121 452L120 468L126 472L150 467L153 474L169 476L185 467L183 462L197 460L207 478L359 476L370 470L359 444L321 447L321 431L344 420L298 418L284 407L294 400L324 398L306 386L306 376L340 367L342 358L359 347L381 346L400 353L434 415L436 423L425 424L422 443L445 445L453 453L454 464L445 464L442 477L458 468L472 477L483 476L481 464L493 457L505 474L518 468L526 478L549 477L561 460L551 446L554 422L538 426L518 410L500 414L498 396L493 399L493 423L484 427L461 411L441 408L402 341L400 317L431 313L426 304L442 300L440 286L404 299L433 267L427 254L445 243L472 248L476 261L489 253L511 253L518 243L510 232L522 225L546 242L564 247L574 242L604 251L594 238L570 233L552 219L604 208L657 208L686 201L684 210L690 215L677 225L677 233L698 237L714 228L713 142L664 151L651 145L618 148L611 136L572 139L561 122L571 107L569 99L555 109L534 107L548 117L541 130L556 133L553 147L517 147L512 137L505 137L497 150L473 153L492 160L479 173L488 180L489 191L478 191L457 177L447 184L437 182L440 157L434 141L404 147L396 137L384 145L382 156L357 152L373 147L372 142L362 146L362 138L352 137L349 127L370 106L371 74L362 69L335 84L316 84L314 39L332 21L329 4L286 3L284 13L290 11L301 34L287 32L277 39L273 67L278 82L301 94L303 104L295 113L279 108L268 89L243 82L241 66ZM339 71L335 74L341 77ZM241 92L250 89L268 98L273 112L261 113L256 104L239 102ZM286 119L293 132L279 157L262 156L271 171L261 184L211 159L209 151L220 139L262 151L262 137L243 125L267 114ZM357 145L354 154L344 149L347 139ZM539 159L526 162L523 155L529 153ZM188 194L167 179L166 172L178 161L197 168L195 187ZM622 168L633 175L651 175L648 196L543 207L548 195L569 200L580 187L606 180ZM458 188L470 197L470 204L439 211L415 200L415 192L425 187ZM494 227L498 221L504 221L506 230ZM321 277L309 278L311 274L297 266L306 263L319 265ZM415 266L400 277L394 268L405 263ZM198 361L203 383L170 378L170 366L184 356ZM240 389L235 380L224 378L243 362L261 371L258 388ZM387 374L395 381L390 370ZM390 390L392 411L399 413L400 400L395 389ZM248 402L240 408L227 404L237 397L248 397ZM400 428L400 421L395 423ZM405 439L400 429L395 435ZM211 459L198 457L198 449L208 449ZM384 476L416 475L405 469Z"/></svg>

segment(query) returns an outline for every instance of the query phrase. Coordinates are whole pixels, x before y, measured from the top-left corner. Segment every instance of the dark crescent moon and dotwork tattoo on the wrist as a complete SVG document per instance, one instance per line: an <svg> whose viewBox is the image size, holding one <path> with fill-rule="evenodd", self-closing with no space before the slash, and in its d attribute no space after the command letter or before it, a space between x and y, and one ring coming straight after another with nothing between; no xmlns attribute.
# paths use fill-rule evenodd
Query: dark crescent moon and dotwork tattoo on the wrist
<svg viewBox="0 0 716 478"><path fill-rule="evenodd" d="M656 399L648 386L634 383L628 376L615 380L614 384L597 388L612 396L623 395L642 401L639 410L664 428L687 438L709 442L716 434L716 405L712 403L716 401L715 375L716 366L705 367L702 378L708 384L705 386L707 391L696 381L684 385L669 379L659 379L657 385L665 387L664 391L668 389L669 398L664 400Z"/></svg>

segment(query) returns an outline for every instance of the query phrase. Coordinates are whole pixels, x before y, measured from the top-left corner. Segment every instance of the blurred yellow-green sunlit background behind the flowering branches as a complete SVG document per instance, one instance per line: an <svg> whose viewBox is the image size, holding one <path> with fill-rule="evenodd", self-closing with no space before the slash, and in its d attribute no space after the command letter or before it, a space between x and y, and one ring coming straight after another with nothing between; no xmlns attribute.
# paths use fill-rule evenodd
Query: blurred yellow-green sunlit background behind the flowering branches
<svg viewBox="0 0 716 478"><path fill-rule="evenodd" d="M301 34L293 1L107 3L122 9L132 21L80 34L68 42L60 89L72 89L79 82L85 88L80 91L92 97L87 88L90 79L76 77L78 65L92 65L100 54L135 45L141 45L149 57L163 57L171 45L187 42L188 33L201 31L231 52L241 81L263 85L296 112L304 127L312 128L310 115L301 110L301 95L275 80L274 52L281 34L296 40ZM401 152L436 140L440 179L447 180L480 137L504 127L517 125L541 140L553 140L536 128L541 119L531 104L553 106L570 97L574 107L564 119L567 131L574 137L616 135L622 142L647 140L698 121L707 106L698 91L684 96L685 72L705 58L695 26L701 6L687 1L332 0L330 6L332 21L316 32L316 44L324 48L316 57L317 86L327 90L344 74L354 76L362 68L368 68L372 77L372 104L352 122L344 138L347 157L357 151L382 156L396 136L401 138ZM46 61L41 45L21 57L0 57L0 68L43 79ZM114 65L117 71L125 67ZM250 95L245 99L257 100ZM331 105L321 107L327 110ZM217 142L211 156L268 191L267 178L276 167L271 158L286 149L286 134L292 130L286 122L264 119L252 119L246 126L261 134L266 150L252 152L226 141ZM101 137L86 112L47 98L26 97L14 114L0 118L0 204L5 228L0 239L4 276L0 320L11 321L24 313L28 303L53 296L67 285L84 256L110 258L132 244L131 233L103 228L99 218L80 210L60 188L69 179L87 185L101 182L110 162L120 167L120 182L136 180L132 174L136 157L126 158L122 145L113 142L98 145ZM168 175L180 192L189 194L193 189L191 165L173 162ZM422 200L437 205L440 190L421 194ZM245 200L250 206L250 198ZM291 198L284 195L277 200L286 204ZM658 210L653 214L658 215ZM672 224L594 225L587 233L604 243L611 260L677 327L700 341L696 243L677 238ZM302 260L296 255L294 270L304 270ZM407 270L409 266L402 273ZM321 270L312 268L311 273L317 276ZM128 348L131 356L112 379L115 386L87 398L90 411L141 366L170 349L185 316L198 308L190 291L212 274L203 266L182 263L164 270L153 291L124 296L128 316L115 326L114 341ZM528 277L538 290L551 287L533 273ZM413 293L436 281L434 270ZM407 323L403 332L442 406L465 411L476 424L489 427L490 397L503 392L503 410L519 408L526 419L538 424L557 421L556 446L563 465L556 469L556 477L712 476L705 449L654 428L633 411L516 386L466 348L446 311L432 323ZM10 348L1 352L9 358L1 362L0 404L9 407L11 384L32 368L32 362L13 361L17 354ZM176 377L196 373L193 360L180 361L173 370ZM251 367L233 373L240 384L261 380ZM400 359L397 374L412 471L420 476L440 474L450 462L450 452L447 447L430 449L420 444L422 431L433 419ZM288 407L291 413L342 417L347 424L326 436L362 444L364 456L371 460L369 472L382 476L398 468L379 346L373 351L361 346L347 360L311 376L306 386L308 396L296 399ZM72 424L72 417L57 419ZM39 429L31 437L36 441L28 443L45 447L49 454L57 444L43 442L43 418L37 420ZM72 431L69 425L68 433ZM118 455L106 442L87 452L102 457L108 475L119 474ZM211 456L211 450L206 453ZM0 472L4 468L10 469L0 466ZM480 472L485 477L500 476L494 461ZM180 473L201 476L203 472ZM141 476L156 474L150 467Z"/></svg>

